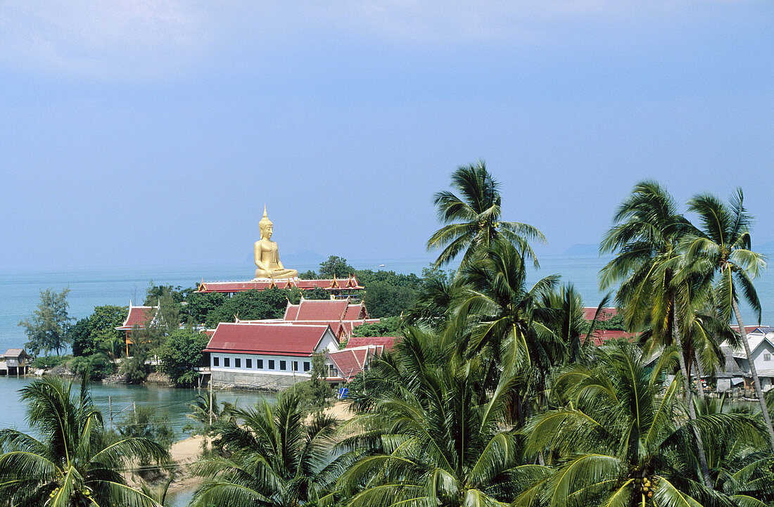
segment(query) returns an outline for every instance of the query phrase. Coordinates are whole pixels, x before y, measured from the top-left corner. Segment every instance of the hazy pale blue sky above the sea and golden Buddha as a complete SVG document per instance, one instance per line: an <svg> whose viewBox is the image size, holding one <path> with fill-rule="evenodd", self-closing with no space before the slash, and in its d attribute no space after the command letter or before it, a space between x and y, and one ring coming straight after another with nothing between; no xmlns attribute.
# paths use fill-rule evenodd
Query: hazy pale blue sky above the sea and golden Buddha
<svg viewBox="0 0 774 507"><path fill-rule="evenodd" d="M774 240L774 2L2 2L0 266L414 258L485 159L541 252L644 178ZM292 267L292 266L289 266Z"/></svg>

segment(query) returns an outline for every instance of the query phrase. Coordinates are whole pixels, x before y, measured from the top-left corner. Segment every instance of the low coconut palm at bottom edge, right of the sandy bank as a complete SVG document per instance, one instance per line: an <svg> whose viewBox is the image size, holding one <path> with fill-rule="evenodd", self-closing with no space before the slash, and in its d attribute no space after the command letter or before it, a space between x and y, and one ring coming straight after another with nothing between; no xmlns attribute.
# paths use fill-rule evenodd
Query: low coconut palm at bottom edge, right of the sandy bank
<svg viewBox="0 0 774 507"><path fill-rule="evenodd" d="M231 409L231 415L235 419L221 424L214 443L223 455L196 465L210 480L191 505L314 505L330 495L341 474L330 454L334 418L320 416L307 426L293 392L284 392L276 405L263 400L257 409Z"/></svg>

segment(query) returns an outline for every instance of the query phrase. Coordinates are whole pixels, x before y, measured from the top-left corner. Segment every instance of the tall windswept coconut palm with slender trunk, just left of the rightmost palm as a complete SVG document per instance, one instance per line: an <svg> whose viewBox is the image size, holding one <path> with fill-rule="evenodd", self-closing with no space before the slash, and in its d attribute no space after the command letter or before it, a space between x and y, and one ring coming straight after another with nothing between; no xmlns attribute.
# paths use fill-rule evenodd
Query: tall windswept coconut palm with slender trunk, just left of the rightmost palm
<svg viewBox="0 0 774 507"><path fill-rule="evenodd" d="M624 313L630 331L650 328L650 336L659 346L676 344L680 351L683 392L689 399L691 420L696 419L690 398L686 349L680 336L684 310L691 294L707 293L706 284L692 286L695 277L683 268L680 242L693 229L677 211L672 196L655 181L637 183L632 194L622 202L614 217L615 225L604 235L600 253L616 252L600 272L600 286L607 289L621 283L615 300ZM676 283L676 278L682 283ZM704 291L698 290L704 289ZM695 431L704 485L711 478L704 457L704 445Z"/></svg>

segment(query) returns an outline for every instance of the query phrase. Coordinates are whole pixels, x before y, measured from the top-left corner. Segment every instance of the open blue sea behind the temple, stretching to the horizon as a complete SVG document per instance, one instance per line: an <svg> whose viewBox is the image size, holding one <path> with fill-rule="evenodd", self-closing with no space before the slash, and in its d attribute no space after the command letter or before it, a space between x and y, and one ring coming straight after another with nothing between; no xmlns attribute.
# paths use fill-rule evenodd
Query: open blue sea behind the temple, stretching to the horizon
<svg viewBox="0 0 774 507"><path fill-rule="evenodd" d="M290 261L293 255L287 257ZM540 255L540 269L530 269L528 281L534 283L542 276L559 274L560 283L572 283L583 296L586 306L596 307L605 294L598 288L598 272L608 259L583 251ZM431 259L348 259L348 262L355 269L383 269L404 274L413 272L422 276L423 269L430 267ZM309 256L303 259L302 255L298 255L296 262L285 263L299 272L319 268L319 261L312 262ZM125 306L130 300L135 304L142 303L151 280L155 285L185 288L195 286L202 279L205 282L251 279L252 270L248 262L225 262L176 267L22 269L0 273L0 351L23 347L27 339L18 325L19 320L29 317L36 309L41 290L60 291L69 287L70 317L80 319L90 315L97 306ZM755 286L763 307L762 324L774 324L774 276L764 272L755 280ZM757 324L748 308L743 307L742 316L745 325Z"/></svg>

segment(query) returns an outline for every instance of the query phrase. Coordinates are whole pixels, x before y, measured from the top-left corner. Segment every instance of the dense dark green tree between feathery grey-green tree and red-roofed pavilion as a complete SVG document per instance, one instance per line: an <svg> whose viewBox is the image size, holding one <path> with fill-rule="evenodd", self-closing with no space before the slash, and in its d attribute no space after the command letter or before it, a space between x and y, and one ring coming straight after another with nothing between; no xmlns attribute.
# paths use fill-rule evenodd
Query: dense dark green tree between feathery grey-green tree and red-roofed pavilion
<svg viewBox="0 0 774 507"><path fill-rule="evenodd" d="M73 355L89 356L105 352L113 358L124 350L125 334L117 331L126 319L128 307L105 305L94 307L89 317L80 319L70 328Z"/></svg>

